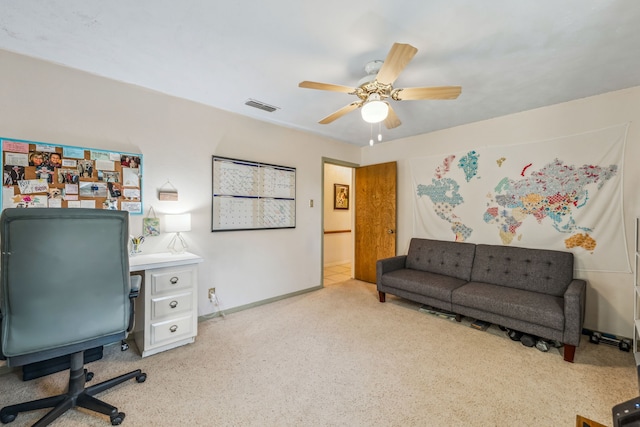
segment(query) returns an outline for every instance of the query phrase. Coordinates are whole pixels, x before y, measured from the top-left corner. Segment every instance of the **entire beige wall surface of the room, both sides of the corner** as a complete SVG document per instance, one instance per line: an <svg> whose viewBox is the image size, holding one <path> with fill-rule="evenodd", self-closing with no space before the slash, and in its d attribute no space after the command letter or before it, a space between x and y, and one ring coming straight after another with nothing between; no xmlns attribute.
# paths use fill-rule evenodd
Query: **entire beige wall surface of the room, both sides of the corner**
<svg viewBox="0 0 640 427"><path fill-rule="evenodd" d="M213 311L206 298L210 286L229 309L321 284L323 214L309 200L322 200L324 158L363 165L398 161L398 252L406 253L413 227L409 158L630 122L623 177L632 251L640 215L640 87L361 149L1 50L0 64L0 136L141 152L145 210L153 205L160 215L192 212L193 230L185 238L205 260L200 314ZM296 167L296 228L211 233L212 155ZM179 190L179 202L157 200L167 181ZM131 228L140 232L141 217L132 217ZM147 239L143 249L163 251L169 240L164 234ZM589 281L586 326L631 336L632 275L581 275Z"/></svg>

